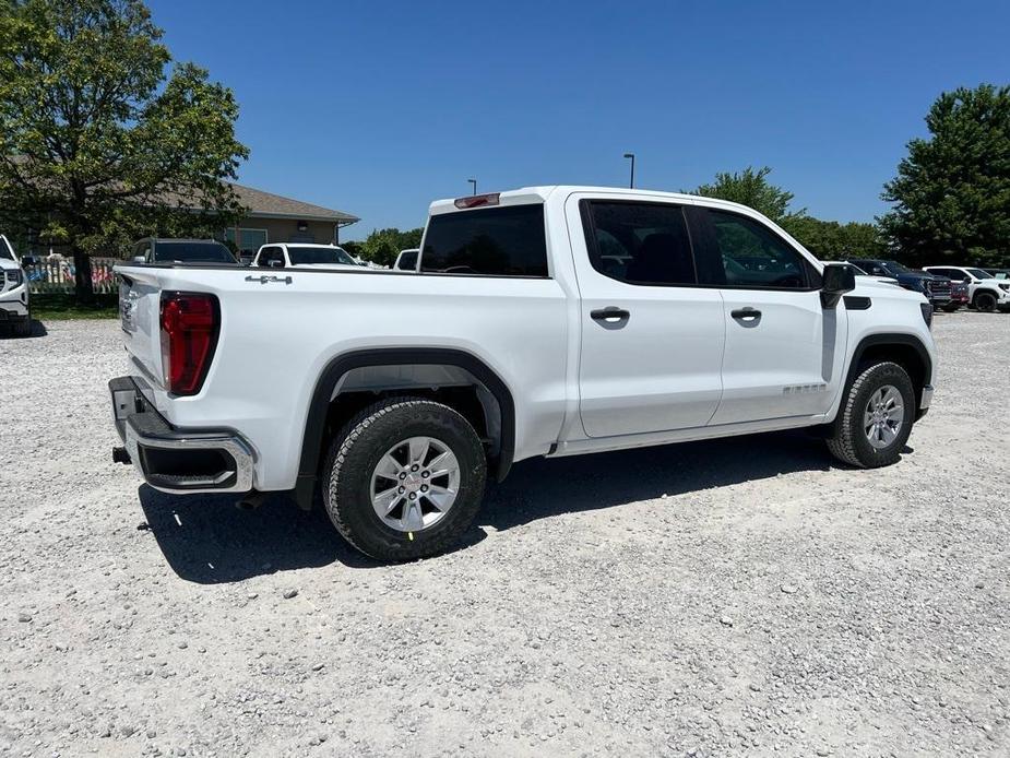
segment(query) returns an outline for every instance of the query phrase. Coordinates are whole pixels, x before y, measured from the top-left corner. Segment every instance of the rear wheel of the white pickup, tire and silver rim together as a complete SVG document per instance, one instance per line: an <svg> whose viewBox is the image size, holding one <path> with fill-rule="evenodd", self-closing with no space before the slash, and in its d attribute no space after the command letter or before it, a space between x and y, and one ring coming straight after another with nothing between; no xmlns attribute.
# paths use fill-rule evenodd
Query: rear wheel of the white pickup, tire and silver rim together
<svg viewBox="0 0 1010 758"><path fill-rule="evenodd" d="M379 560L443 553L484 498L487 461L456 411L393 398L363 411L334 439L323 501L341 535Z"/></svg>

